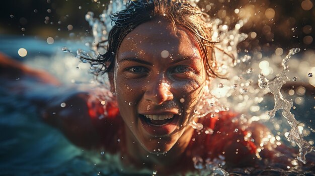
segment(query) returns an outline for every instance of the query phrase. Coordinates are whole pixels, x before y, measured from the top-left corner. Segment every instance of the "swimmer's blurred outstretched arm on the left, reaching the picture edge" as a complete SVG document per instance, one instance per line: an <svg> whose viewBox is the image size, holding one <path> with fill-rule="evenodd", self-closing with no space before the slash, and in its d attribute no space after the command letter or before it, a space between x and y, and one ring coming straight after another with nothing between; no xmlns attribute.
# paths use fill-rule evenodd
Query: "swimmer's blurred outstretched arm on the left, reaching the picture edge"
<svg viewBox="0 0 315 176"><path fill-rule="evenodd" d="M59 81L45 72L35 70L9 59L0 53L1 91L9 97L22 97L35 105L48 124L60 129L74 144L96 147L101 143L100 129L104 119L103 105L95 96L76 88L64 88ZM61 103L65 106L61 107ZM110 103L108 103L109 105ZM111 108L113 112L114 108ZM117 116L117 112L109 115Z"/></svg>

